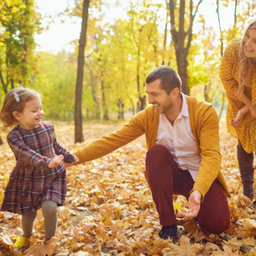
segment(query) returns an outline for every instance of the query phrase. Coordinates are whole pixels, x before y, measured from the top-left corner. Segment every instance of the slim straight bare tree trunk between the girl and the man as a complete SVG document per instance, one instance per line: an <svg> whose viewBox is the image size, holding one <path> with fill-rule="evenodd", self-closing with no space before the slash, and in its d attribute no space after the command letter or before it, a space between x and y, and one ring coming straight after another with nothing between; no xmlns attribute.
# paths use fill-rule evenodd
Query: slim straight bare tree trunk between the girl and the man
<svg viewBox="0 0 256 256"><path fill-rule="evenodd" d="M85 62L85 47L86 47L86 30L88 23L88 10L90 0L83 1L82 10L82 28L79 38L78 48L78 72L77 72L77 83L75 86L75 103L74 103L74 142L83 142L82 134L82 79L83 79L83 68Z"/></svg>

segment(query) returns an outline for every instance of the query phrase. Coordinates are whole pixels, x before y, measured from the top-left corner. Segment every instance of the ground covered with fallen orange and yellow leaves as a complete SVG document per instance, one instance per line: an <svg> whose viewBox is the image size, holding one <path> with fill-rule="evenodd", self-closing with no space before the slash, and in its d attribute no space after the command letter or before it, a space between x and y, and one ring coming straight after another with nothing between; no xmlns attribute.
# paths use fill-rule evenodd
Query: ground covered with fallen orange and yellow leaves
<svg viewBox="0 0 256 256"><path fill-rule="evenodd" d="M85 140L73 144L74 124L54 122L58 141L74 151L104 134L116 130L121 123L86 123ZM58 231L46 245L42 212L38 211L30 249L25 255L53 254L56 246L62 255L226 255L244 254L247 246L256 255L256 213L242 195L236 158L236 141L221 124L222 173L232 198L228 198L231 225L225 234L232 240L201 230L191 218L178 218L178 245L158 237L161 230L150 189L144 178L146 143L142 136L114 153L85 165L67 170L67 206L58 208ZM6 133L0 134L6 138ZM0 146L0 204L14 155L6 142ZM182 196L174 197L174 208L186 211ZM22 235L21 216L0 211L0 255L22 255L18 252ZM18 238L18 240L14 239ZM14 246L14 242L16 244ZM250 246L250 247L248 247Z"/></svg>

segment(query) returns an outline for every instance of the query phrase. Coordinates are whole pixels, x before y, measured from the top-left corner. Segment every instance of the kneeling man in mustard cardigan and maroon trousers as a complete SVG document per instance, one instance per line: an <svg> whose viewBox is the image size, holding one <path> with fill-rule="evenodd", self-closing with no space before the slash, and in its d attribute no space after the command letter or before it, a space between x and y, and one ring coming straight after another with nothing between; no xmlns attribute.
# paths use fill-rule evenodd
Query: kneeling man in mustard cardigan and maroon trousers
<svg viewBox="0 0 256 256"><path fill-rule="evenodd" d="M146 78L147 106L125 126L74 152L79 163L100 158L146 135L146 180L156 204L161 238L177 240L173 194L189 202L184 217L221 234L230 225L226 195L230 194L220 172L218 115L210 103L181 94L181 79L169 66L159 66ZM225 192L226 194L225 194Z"/></svg>

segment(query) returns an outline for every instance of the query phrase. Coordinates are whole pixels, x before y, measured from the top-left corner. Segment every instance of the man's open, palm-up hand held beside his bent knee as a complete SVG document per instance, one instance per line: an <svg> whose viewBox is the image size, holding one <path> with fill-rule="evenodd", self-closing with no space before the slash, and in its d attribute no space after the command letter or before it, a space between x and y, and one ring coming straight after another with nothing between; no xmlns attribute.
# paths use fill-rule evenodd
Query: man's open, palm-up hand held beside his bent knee
<svg viewBox="0 0 256 256"><path fill-rule="evenodd" d="M183 213L182 211L179 211L178 214L181 215L182 217L186 218L195 218L198 216L198 212L200 210L200 203L202 199L202 194L198 190L194 190L190 194L189 198L189 210L187 213Z"/></svg>

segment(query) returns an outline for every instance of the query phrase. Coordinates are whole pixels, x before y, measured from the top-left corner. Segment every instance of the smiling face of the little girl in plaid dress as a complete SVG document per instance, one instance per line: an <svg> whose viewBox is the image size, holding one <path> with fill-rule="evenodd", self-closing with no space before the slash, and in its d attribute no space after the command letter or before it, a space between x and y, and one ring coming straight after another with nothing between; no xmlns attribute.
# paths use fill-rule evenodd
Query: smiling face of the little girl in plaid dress
<svg viewBox="0 0 256 256"><path fill-rule="evenodd" d="M41 98L32 98L25 103L22 113L14 111L13 115L22 129L32 129L40 126L44 116Z"/></svg>

